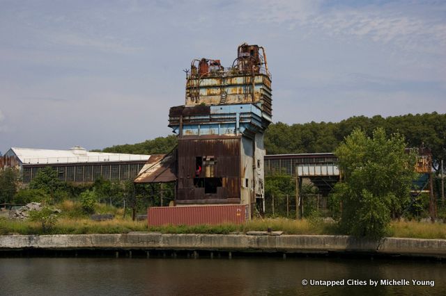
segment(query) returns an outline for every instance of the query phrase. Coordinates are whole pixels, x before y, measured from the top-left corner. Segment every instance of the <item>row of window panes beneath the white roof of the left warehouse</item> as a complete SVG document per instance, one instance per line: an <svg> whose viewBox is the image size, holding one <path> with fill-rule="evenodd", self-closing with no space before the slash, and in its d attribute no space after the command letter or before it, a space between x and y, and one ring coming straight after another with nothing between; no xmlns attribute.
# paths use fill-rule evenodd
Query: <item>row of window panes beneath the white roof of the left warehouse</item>
<svg viewBox="0 0 446 296"><path fill-rule="evenodd" d="M127 165L76 165L54 167L61 181L91 182L102 176L105 180L127 180L137 176L144 164L133 163ZM43 167L24 167L23 183L29 183L36 178L36 174Z"/></svg>

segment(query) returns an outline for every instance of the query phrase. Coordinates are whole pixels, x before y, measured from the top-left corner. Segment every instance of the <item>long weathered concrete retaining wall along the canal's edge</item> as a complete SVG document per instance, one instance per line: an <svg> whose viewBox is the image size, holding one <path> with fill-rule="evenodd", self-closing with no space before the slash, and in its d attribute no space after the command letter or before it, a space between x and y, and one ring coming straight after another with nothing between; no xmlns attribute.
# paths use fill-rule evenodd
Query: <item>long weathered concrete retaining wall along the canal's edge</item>
<svg viewBox="0 0 446 296"><path fill-rule="evenodd" d="M0 236L0 250L11 249L170 249L231 252L328 253L367 252L446 258L446 240L383 238L380 242L351 236L247 236L218 234L60 234Z"/></svg>

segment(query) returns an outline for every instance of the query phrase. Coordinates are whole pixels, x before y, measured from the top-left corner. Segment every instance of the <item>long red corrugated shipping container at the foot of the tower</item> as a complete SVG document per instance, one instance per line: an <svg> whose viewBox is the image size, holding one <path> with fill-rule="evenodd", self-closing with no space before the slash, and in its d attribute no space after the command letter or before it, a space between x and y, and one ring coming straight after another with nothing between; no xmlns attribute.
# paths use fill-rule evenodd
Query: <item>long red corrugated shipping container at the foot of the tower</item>
<svg viewBox="0 0 446 296"><path fill-rule="evenodd" d="M247 206L159 206L148 208L147 220L149 227L166 224L242 224L247 220Z"/></svg>

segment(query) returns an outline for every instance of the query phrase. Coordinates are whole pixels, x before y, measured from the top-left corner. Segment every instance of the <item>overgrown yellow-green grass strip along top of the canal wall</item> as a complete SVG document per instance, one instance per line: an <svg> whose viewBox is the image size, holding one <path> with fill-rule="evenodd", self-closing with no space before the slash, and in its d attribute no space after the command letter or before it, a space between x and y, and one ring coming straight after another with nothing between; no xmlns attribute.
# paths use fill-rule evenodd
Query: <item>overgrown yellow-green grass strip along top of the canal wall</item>
<svg viewBox="0 0 446 296"><path fill-rule="evenodd" d="M38 222L8 220L0 218L0 235L16 234L89 234L89 233L128 233L130 231L158 231L161 233L210 233L229 234L247 231L284 231L285 234L339 235L343 234L336 223L321 219L291 220L286 218L266 218L250 220L245 224L195 225L147 227L146 221L132 221L123 217L123 209L96 204L95 213L112 213L114 220L93 221L82 211L77 202L70 200L55 205L62 210L60 219L46 233ZM397 238L442 238L446 239L446 224L426 222L394 221L390 224L387 236Z"/></svg>

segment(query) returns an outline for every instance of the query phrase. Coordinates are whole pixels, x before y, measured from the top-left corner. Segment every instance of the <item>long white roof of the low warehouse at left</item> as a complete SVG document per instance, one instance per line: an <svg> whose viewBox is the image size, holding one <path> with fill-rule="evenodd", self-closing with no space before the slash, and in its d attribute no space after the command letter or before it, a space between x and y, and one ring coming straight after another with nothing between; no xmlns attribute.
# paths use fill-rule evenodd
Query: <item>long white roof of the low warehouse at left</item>
<svg viewBox="0 0 446 296"><path fill-rule="evenodd" d="M102 163L110 161L147 161L150 155L91 152L75 146L68 150L12 147L23 164L41 163Z"/></svg>

